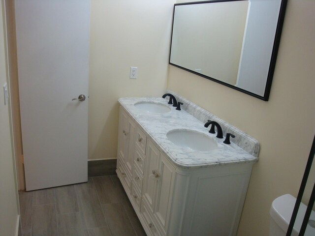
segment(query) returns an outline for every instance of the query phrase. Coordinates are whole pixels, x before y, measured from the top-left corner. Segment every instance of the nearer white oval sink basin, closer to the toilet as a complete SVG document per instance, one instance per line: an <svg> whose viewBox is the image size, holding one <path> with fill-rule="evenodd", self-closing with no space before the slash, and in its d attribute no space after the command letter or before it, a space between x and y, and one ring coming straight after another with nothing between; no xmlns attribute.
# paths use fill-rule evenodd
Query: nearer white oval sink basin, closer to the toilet
<svg viewBox="0 0 315 236"><path fill-rule="evenodd" d="M174 129L166 134L169 141L194 151L211 151L218 148L218 143L213 138L188 129Z"/></svg>

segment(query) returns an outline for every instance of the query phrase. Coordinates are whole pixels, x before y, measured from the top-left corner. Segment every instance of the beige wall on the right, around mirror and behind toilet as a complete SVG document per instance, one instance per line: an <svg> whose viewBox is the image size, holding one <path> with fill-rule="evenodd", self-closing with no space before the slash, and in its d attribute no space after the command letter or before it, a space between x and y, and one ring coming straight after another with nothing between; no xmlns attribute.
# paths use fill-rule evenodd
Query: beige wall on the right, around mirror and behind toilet
<svg viewBox="0 0 315 236"><path fill-rule="evenodd" d="M268 102L169 66L168 89L260 142L238 236L268 235L272 201L297 196L315 134L314 12L313 0L288 0Z"/></svg>

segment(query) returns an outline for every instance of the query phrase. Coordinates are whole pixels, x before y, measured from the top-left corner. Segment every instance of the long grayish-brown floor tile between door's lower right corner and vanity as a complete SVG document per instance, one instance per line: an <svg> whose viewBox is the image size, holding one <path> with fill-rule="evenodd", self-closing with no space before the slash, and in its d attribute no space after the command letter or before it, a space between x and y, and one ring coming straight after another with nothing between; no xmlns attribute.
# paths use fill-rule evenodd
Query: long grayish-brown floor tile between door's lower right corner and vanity
<svg viewBox="0 0 315 236"><path fill-rule="evenodd" d="M107 226L95 189L77 190L84 229Z"/></svg>

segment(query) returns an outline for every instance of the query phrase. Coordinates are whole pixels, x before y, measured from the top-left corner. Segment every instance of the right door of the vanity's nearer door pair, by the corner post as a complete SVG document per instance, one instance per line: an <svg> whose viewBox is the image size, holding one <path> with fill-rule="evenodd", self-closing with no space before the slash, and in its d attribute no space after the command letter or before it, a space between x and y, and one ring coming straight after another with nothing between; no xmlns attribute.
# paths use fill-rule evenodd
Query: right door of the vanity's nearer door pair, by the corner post
<svg viewBox="0 0 315 236"><path fill-rule="evenodd" d="M160 154L159 173L158 196L154 215L160 224L160 227L167 232L168 218L173 196L175 168L162 154Z"/></svg>

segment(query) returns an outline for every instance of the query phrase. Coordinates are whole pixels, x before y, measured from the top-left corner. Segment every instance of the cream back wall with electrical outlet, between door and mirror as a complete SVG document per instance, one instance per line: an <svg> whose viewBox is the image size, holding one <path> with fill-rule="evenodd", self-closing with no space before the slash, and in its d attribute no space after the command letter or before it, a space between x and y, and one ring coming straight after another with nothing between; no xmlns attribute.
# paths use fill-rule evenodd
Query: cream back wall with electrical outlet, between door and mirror
<svg viewBox="0 0 315 236"><path fill-rule="evenodd" d="M118 98L165 91L174 2L91 0L89 159L117 156Z"/></svg>

